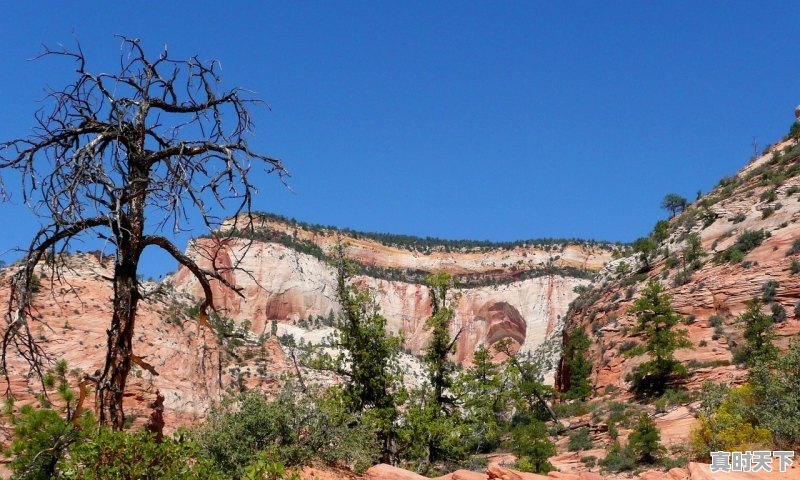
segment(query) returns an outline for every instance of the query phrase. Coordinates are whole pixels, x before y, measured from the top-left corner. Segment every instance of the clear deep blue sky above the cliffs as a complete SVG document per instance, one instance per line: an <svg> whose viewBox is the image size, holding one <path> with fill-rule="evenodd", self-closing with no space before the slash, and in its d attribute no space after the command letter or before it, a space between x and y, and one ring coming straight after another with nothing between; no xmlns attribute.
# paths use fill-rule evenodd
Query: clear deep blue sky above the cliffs
<svg viewBox="0 0 800 480"><path fill-rule="evenodd" d="M69 78L67 62L26 61L42 43L74 32L109 70L122 33L217 58L226 86L269 102L252 145L284 159L293 191L264 178L259 209L422 236L629 241L665 193L707 191L800 103L796 1L150 5L5 5L0 137L25 135L42 87ZM0 251L37 226L18 204L0 221ZM148 257L144 271L173 268Z"/></svg>

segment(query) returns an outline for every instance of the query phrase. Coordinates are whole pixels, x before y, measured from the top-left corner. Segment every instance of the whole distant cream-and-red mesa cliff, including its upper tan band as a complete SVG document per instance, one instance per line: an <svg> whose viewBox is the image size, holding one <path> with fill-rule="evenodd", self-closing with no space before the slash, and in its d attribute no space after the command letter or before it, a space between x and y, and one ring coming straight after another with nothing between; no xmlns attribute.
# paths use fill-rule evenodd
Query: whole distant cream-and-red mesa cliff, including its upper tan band
<svg viewBox="0 0 800 480"><path fill-rule="evenodd" d="M229 220L223 230L233 229L234 222L241 226L245 220ZM293 241L309 242L322 252L329 251L342 235L271 217L258 217L255 222L257 231L290 235ZM487 286L457 292L454 330L462 330L462 334L456 360L462 363L471 360L478 345L490 346L504 338L510 338L518 348L536 349L566 313L569 302L577 295L574 289L588 283L558 268L596 270L611 259L609 246L580 243L566 244L558 251L517 245L507 249L421 253L357 235L342 240L347 243L348 256L368 267L394 272L446 271L488 278ZM333 269L315 256L279 243L236 237L226 240L222 248L216 248L210 240L198 239L191 244L190 254L206 266L214 258L218 268L230 268L236 263L242 269L233 271L227 279L243 289L244 298L218 283L214 293L217 307L238 322L247 320L255 335L265 333L272 320L296 325L308 317L325 317L338 311ZM547 274L548 267L555 267L555 273ZM538 273L540 270L542 274ZM536 276L526 278L531 277L530 272L537 272ZM515 281L517 278L522 279ZM186 269L180 269L172 281L179 289L200 294L200 286ZM424 329L431 308L427 288L420 283L368 275L361 275L356 281L376 292L389 329L402 332L406 347L419 353L428 339Z"/></svg>

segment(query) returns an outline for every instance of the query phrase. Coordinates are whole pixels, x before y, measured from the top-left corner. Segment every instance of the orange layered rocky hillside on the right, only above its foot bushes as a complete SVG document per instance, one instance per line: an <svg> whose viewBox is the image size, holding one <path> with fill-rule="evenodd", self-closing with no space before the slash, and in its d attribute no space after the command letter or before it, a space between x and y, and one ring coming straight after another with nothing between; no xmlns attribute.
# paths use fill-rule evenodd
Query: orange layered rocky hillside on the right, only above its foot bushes
<svg viewBox="0 0 800 480"><path fill-rule="evenodd" d="M743 378L745 372L732 365L733 351L742 343L736 317L745 310L746 301L765 297L768 282L776 283L767 304L779 305L786 313L776 325L776 343L786 347L800 332L800 309L795 308L800 300L800 275L792 270L800 253L792 249L800 238L798 157L797 141L778 143L672 218L669 238L659 246L651 270L617 273L626 270L618 270L620 263L631 265L630 272L641 270L637 256L615 260L602 270L595 288L576 301L565 328L565 335L578 326L592 332L592 380L598 394L626 390L625 376L643 359L626 358L621 350L630 347L626 342L637 341L629 335L635 319L628 310L649 280L664 284L676 311L688 319L681 328L688 331L692 346L676 356L690 368L690 388L705 380L736 383ZM741 262L721 259L743 233L758 231L765 238L743 252ZM700 235L706 254L699 268L690 269L690 277L681 278L679 257L691 232ZM562 369L558 383L565 384L568 374Z"/></svg>

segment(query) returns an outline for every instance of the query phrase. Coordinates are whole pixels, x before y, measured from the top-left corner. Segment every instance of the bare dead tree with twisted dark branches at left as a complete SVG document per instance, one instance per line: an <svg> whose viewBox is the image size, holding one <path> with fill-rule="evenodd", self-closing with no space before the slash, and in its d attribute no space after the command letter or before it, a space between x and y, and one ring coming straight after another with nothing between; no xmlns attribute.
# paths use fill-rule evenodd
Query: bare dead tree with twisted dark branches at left
<svg viewBox="0 0 800 480"><path fill-rule="evenodd" d="M9 348L40 379L48 361L32 333L39 320L30 294L37 266L44 263L49 278L60 278L65 265L59 254L74 240L96 235L115 251L114 298L105 364L90 380L96 382L100 422L116 429L125 421L122 399L131 363L154 372L132 345L142 252L161 248L194 274L205 293L200 322L207 324L207 311L214 308L210 282L234 288L223 274L238 266L217 267L218 249L211 247L198 252L211 265L203 268L160 232L183 230L194 212L219 246L225 239L214 231L222 219L213 210L227 209L235 217L250 212L256 191L251 168L286 174L279 160L248 146L249 108L257 100L239 88L220 91L217 62L176 60L166 49L148 58L138 40L121 40L116 73L89 72L80 46L47 49L42 56L76 63L74 83L48 92L29 137L0 144L3 199L2 180L19 177L24 202L44 224L11 278L2 339L6 379Z"/></svg>

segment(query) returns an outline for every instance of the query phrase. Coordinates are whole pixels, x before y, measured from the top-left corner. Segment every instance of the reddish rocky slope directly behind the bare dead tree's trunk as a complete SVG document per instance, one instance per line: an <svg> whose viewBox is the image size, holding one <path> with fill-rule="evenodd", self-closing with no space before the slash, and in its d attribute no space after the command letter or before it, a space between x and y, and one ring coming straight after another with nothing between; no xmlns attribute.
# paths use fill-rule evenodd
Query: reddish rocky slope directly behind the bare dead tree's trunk
<svg viewBox="0 0 800 480"><path fill-rule="evenodd" d="M34 337L49 356L45 370L52 368L55 360L66 360L70 369L68 379L74 386L83 375L93 375L101 369L105 361L113 294L111 283L105 278L111 275L113 260L81 254L70 257L68 264L70 268L64 270L61 282L51 282L45 271L40 272L42 287L34 297L39 319L29 323ZM8 274L8 270L0 274L4 284L0 289L3 304L8 299ZM212 332L171 317L163 304L142 301L139 305L134 354L151 364L158 375L134 366L125 395L126 414L144 425L151 414L148 404L156 401L156 392L160 391L163 420L166 430L172 431L178 425L202 418L209 399L220 396L219 349ZM28 364L15 353L13 348L9 350L10 393L21 406L35 402L42 391L29 375ZM48 395L59 402L55 389ZM92 408L93 400L90 395L87 408Z"/></svg>

